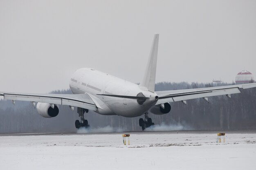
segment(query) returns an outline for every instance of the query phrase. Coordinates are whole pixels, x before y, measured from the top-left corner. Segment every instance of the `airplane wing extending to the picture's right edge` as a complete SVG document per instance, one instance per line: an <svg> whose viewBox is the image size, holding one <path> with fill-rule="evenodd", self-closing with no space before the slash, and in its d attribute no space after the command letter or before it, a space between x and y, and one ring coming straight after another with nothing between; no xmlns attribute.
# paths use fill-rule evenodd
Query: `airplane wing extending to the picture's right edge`
<svg viewBox="0 0 256 170"><path fill-rule="evenodd" d="M250 84L236 84L231 86L219 86L219 87L207 87L207 88L193 88L185 90L172 90L172 91L156 91L159 99L157 104L164 104L166 102L182 101L186 104L186 100L204 98L208 101L207 97L227 95L231 97L231 94L240 93L239 88L253 88L256 87L256 83Z"/></svg>

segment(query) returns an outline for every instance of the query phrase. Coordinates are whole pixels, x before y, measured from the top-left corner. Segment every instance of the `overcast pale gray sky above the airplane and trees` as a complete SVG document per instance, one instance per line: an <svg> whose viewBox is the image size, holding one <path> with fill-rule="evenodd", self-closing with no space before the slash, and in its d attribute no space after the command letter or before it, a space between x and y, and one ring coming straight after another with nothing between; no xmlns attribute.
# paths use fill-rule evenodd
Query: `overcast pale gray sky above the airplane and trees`
<svg viewBox="0 0 256 170"><path fill-rule="evenodd" d="M256 75L255 0L0 0L0 91L68 88L81 67L140 82L154 33L156 82Z"/></svg>

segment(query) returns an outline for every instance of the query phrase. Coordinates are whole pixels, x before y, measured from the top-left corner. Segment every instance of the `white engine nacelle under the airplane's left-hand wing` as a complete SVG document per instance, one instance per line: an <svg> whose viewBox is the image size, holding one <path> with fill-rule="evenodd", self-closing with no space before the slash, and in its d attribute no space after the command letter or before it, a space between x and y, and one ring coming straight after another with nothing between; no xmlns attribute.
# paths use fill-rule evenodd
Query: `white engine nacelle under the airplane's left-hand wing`
<svg viewBox="0 0 256 170"><path fill-rule="evenodd" d="M39 115L46 118L56 117L59 111L58 106L56 104L54 104L54 108L52 108L49 103L40 103L40 102L37 103L36 109Z"/></svg>

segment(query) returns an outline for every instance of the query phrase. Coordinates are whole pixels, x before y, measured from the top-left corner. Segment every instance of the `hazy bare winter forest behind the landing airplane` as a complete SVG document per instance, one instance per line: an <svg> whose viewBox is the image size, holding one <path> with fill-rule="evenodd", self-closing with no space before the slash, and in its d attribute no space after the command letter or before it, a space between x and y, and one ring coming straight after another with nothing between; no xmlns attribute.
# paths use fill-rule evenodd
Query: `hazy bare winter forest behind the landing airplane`
<svg viewBox="0 0 256 170"><path fill-rule="evenodd" d="M169 83L155 85L156 91L224 86L231 84ZM183 130L245 130L256 129L256 88L240 89L240 94L209 97L209 103L203 99L191 99L171 103L171 112L165 115L153 115L155 124L180 126ZM70 90L52 93L71 93ZM54 118L41 117L30 102L0 101L0 133L5 132L76 132L74 122L79 119L76 109L59 106L60 113ZM89 111L85 115L91 127L116 127L123 130L141 130L139 118L104 116ZM144 115L141 116L144 118Z"/></svg>

